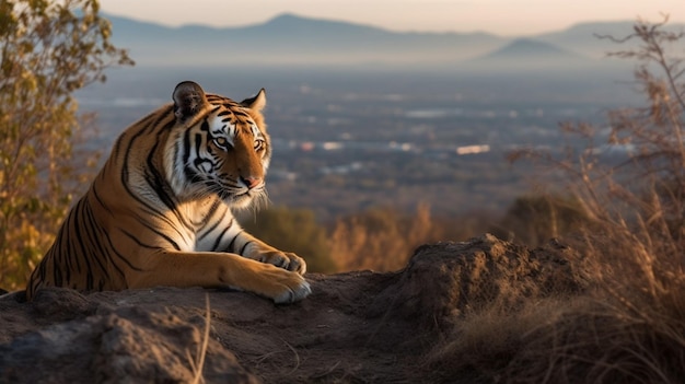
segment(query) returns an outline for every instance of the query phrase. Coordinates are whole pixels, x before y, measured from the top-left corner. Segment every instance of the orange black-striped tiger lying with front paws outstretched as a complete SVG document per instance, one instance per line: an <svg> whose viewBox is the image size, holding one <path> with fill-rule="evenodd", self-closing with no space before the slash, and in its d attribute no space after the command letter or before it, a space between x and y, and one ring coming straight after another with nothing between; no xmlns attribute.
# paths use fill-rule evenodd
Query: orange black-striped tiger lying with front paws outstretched
<svg viewBox="0 0 685 384"><path fill-rule="evenodd" d="M234 210L265 202L266 92L237 103L193 81L126 128L72 206L25 290L229 288L275 303L311 293L305 260L247 233Z"/></svg>

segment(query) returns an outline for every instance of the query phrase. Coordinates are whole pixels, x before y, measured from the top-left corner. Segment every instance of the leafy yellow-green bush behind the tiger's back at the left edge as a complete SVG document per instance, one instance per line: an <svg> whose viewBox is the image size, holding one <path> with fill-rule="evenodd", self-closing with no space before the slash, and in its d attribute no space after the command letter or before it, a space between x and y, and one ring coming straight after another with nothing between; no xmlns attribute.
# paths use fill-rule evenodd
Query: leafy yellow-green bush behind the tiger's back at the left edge
<svg viewBox="0 0 685 384"><path fill-rule="evenodd" d="M23 287L92 154L72 92L132 61L96 0L0 0L0 286Z"/></svg>

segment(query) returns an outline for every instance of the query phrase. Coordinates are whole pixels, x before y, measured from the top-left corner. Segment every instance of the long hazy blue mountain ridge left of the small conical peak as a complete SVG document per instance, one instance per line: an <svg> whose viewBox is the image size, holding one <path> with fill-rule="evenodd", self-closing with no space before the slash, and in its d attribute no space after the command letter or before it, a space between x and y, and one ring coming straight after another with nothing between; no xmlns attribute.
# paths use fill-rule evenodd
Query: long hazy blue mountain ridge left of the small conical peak
<svg viewBox="0 0 685 384"><path fill-rule="evenodd" d="M167 27L119 16L113 42L141 66L417 66L456 62L506 39L486 33L395 33L283 14L263 24Z"/></svg>

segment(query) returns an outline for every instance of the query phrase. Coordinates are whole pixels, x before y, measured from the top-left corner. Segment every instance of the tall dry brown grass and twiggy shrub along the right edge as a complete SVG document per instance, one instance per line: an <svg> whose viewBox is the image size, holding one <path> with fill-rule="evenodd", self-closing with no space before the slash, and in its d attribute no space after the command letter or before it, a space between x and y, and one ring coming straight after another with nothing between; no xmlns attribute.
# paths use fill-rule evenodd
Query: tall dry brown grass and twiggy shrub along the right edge
<svg viewBox="0 0 685 384"><path fill-rule="evenodd" d="M666 18L667 20L667 18ZM496 383L682 383L685 377L685 68L666 47L684 34L638 21L636 81L646 107L613 110L611 133L564 125L588 146L562 159L520 151L562 171L591 222L573 238L594 265L580 296L531 301L522 310L494 304L455 329L455 341L428 360L449 377ZM595 143L630 146L626 161L606 162ZM628 147L625 147L628 148Z"/></svg>

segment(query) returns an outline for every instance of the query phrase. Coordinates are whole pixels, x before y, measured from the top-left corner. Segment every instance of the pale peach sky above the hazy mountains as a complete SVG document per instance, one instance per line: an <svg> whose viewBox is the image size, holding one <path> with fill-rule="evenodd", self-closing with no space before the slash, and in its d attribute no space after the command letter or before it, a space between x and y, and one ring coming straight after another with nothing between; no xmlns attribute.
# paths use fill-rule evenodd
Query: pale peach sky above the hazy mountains
<svg viewBox="0 0 685 384"><path fill-rule="evenodd" d="M579 22L685 22L685 0L101 0L104 12L165 25L245 26L282 13L417 32L525 36Z"/></svg>

